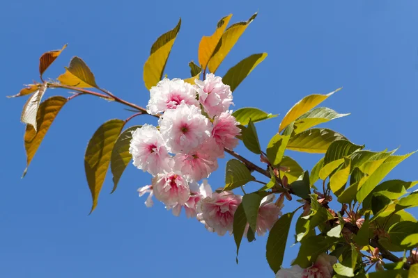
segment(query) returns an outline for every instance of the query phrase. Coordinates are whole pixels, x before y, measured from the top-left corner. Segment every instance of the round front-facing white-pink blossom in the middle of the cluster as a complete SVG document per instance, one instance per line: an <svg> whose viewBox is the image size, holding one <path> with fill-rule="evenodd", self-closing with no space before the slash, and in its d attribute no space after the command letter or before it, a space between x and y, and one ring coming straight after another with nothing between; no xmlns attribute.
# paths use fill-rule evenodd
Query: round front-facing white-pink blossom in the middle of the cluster
<svg viewBox="0 0 418 278"><path fill-rule="evenodd" d="M212 131L210 121L201 114L201 110L184 103L176 109L167 110L158 123L169 152L173 154L188 154L209 138Z"/></svg>

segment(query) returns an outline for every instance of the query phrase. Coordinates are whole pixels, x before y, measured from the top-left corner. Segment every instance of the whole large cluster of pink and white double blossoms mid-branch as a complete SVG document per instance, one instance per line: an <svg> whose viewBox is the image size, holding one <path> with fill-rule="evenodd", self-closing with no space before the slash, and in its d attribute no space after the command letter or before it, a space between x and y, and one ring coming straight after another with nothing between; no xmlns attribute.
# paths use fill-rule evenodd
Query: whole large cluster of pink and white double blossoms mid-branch
<svg viewBox="0 0 418 278"><path fill-rule="evenodd" d="M223 236L232 233L233 215L242 196L232 191L212 192L206 178L217 170L224 149L238 145L239 122L229 110L232 92L222 78L207 74L196 85L181 79L163 79L150 89L147 112L158 115L158 127L144 124L132 132L129 152L133 164L150 173L152 183L139 188L163 202L173 215L182 208L187 218L196 218L209 231ZM199 186L198 182L203 182ZM268 197L263 200L257 233L265 234L281 215Z"/></svg>

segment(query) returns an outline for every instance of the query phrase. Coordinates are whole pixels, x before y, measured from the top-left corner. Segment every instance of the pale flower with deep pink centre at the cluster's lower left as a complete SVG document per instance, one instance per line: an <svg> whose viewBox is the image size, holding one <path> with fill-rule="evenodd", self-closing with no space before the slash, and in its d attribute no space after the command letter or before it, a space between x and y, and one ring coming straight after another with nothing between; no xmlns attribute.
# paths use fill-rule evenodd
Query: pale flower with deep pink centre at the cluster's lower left
<svg viewBox="0 0 418 278"><path fill-rule="evenodd" d="M183 205L190 197L187 181L177 172L157 174L153 178L153 190L155 197L167 207Z"/></svg>

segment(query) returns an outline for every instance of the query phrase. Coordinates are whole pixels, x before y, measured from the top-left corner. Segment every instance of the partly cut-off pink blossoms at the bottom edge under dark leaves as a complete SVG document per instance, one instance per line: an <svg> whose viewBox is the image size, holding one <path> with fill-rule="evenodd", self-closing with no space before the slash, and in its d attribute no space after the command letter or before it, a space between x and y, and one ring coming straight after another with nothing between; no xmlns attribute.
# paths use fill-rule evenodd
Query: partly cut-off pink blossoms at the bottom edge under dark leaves
<svg viewBox="0 0 418 278"><path fill-rule="evenodd" d="M331 278L332 265L336 262L335 256L323 253L309 268L301 268L299 265L293 265L291 268L281 268L277 272L276 278Z"/></svg>

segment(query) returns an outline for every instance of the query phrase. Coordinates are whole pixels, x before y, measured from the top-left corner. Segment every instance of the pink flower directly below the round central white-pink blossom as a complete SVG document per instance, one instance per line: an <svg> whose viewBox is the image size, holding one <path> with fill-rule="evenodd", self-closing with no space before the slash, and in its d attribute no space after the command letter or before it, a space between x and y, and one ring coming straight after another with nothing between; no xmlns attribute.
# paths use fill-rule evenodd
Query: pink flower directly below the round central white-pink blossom
<svg viewBox="0 0 418 278"><path fill-rule="evenodd" d="M192 181L200 181L217 170L217 156L223 153L224 150L219 149L215 140L208 138L189 154L176 154L173 158L173 169L189 176Z"/></svg>

